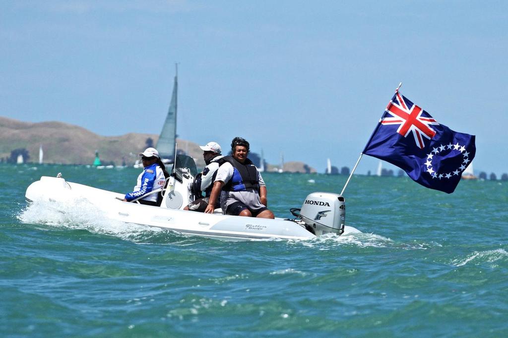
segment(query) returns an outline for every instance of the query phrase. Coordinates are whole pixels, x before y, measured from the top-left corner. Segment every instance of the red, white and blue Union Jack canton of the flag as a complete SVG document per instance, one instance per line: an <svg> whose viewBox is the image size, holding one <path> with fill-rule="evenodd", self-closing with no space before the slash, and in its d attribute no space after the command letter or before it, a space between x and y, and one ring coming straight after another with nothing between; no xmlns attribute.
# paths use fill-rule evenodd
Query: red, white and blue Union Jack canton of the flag
<svg viewBox="0 0 508 338"><path fill-rule="evenodd" d="M384 125L399 125L397 132L403 137L408 137L412 133L416 145L420 149L423 149L425 147L424 138L430 140L436 134L435 130L429 127L429 125L439 125L439 123L426 111L412 104L398 91L395 93L394 98L386 107L386 112L390 116L383 117L379 122Z"/></svg>

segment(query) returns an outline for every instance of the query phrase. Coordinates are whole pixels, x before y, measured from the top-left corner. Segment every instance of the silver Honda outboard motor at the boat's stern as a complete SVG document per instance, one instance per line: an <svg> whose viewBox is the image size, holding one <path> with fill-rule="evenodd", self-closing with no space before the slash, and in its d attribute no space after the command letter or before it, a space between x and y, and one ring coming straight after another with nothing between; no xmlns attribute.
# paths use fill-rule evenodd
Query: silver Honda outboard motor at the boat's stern
<svg viewBox="0 0 508 338"><path fill-rule="evenodd" d="M300 217L319 236L344 232L346 206L344 197L330 192L313 192L305 198Z"/></svg>

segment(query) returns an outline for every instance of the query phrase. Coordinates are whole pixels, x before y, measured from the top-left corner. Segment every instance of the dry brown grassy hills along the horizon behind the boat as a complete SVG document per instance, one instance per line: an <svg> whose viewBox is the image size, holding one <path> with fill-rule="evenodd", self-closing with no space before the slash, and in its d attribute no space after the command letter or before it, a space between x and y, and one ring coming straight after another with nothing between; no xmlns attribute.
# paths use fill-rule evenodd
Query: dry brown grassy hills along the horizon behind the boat
<svg viewBox="0 0 508 338"><path fill-rule="evenodd" d="M4 161L11 151L28 150L28 162L39 161L39 145L44 151L45 163L92 164L96 150L103 164L131 165L146 148L151 138L157 144L158 135L128 133L121 136L100 136L85 128L63 122L23 122L0 116L0 158ZM203 151L199 145L177 139L177 151L196 159L198 167L205 166ZM259 157L259 156L258 156ZM315 173L314 168L303 162L287 162L284 172Z"/></svg>

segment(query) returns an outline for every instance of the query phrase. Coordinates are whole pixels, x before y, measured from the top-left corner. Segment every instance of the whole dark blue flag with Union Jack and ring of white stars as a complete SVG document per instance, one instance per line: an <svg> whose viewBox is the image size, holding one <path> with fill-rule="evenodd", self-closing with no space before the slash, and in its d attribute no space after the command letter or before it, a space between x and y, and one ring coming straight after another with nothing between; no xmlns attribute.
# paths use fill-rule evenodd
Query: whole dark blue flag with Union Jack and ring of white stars
<svg viewBox="0 0 508 338"><path fill-rule="evenodd" d="M474 158L474 136L438 123L397 90L363 153L390 162L421 185L452 193Z"/></svg>

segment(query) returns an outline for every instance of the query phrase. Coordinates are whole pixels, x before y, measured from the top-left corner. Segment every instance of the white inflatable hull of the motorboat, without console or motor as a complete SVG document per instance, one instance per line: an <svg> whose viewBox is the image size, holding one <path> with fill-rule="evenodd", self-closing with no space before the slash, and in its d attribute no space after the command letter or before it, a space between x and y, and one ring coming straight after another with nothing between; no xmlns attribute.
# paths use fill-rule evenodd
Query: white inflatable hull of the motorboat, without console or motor
<svg viewBox="0 0 508 338"><path fill-rule="evenodd" d="M173 210L122 201L123 194L67 182L63 178L42 177L26 189L28 202L51 202L56 209L86 200L105 217L125 223L169 229L186 235L207 238L246 241L265 239L309 240L316 236L292 220L263 219L204 214ZM346 227L346 232L358 230Z"/></svg>

